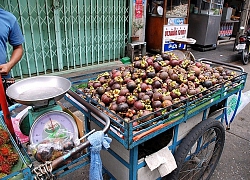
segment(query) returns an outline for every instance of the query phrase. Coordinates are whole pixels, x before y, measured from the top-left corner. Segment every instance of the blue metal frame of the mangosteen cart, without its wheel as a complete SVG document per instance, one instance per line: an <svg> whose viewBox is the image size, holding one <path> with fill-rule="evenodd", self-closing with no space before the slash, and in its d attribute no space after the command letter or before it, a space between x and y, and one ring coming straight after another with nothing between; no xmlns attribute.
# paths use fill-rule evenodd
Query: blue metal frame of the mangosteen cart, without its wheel
<svg viewBox="0 0 250 180"><path fill-rule="evenodd" d="M238 92L241 93L241 90L244 89L245 86L247 74L244 73L244 70L238 66L226 65L224 63L207 59L200 59L199 61L211 65L222 65L229 69L234 69L238 71L240 75L235 78L236 83L234 83L233 86L227 86L226 84L222 84L219 88L211 90L210 93L203 96L202 98L187 101L184 105L174 109L166 116L159 116L147 121L147 123L151 123L153 125L149 125L149 127L137 133L133 133L133 131L138 127L133 127L132 123L124 123L124 127L121 127L121 125L117 123L117 121L111 118L111 130L109 131L109 134L114 139L112 144L115 145L113 148L111 145L111 148L108 150L108 152L105 152L105 154L103 154L102 157L104 157L103 158L104 169L109 174L109 176L112 177L112 179L123 179L123 178L130 180L138 179L139 177L138 173L140 169L143 169L146 166L146 162L144 159L138 159L138 154L139 154L138 147L139 145L147 142L148 140L156 137L157 135L166 132L170 129L173 129L172 141L170 142L170 144L168 144L168 147L172 151L172 153L175 154L177 147L181 144L183 140L183 137L186 136L189 133L189 131L191 131L194 127L196 127L199 122L207 120L208 117L213 117L214 119L221 120L221 122L225 121L224 118L226 114L225 103L227 101L227 98L235 93ZM99 72L99 74L100 73L101 72ZM96 77L96 74L98 73L84 75L84 76L77 76L70 78L70 80L72 81L74 87L74 85L76 84L87 82L93 77ZM95 118L89 118L89 115L86 112L86 108L79 106L79 104L77 103L77 101L80 101L83 98L85 98L85 100L88 101L89 103L95 104L95 102L92 101L90 98L88 98L86 95L84 95L84 93L78 91L76 88L75 89L73 88L73 91L78 93L79 96L74 93L69 93L69 96L66 97L66 100L71 102L78 110L80 110L85 115L85 123L86 123L85 126L88 128L102 127L103 122L100 122ZM211 112L209 112L209 109L212 106L218 105L219 103L224 103L224 107L210 114ZM103 108L98 103L95 105L97 108ZM235 112L236 111L237 108ZM196 119L196 120L191 125L192 127L190 127L186 132L184 132L184 134L181 135L182 137L180 137L179 135L180 126L185 123L188 124L190 122L190 119ZM226 124L229 126L231 122L232 121L230 122L226 121ZM142 124L145 125L145 123ZM117 127L121 127L122 131L119 130L119 128ZM105 158L107 160L105 160ZM114 169L112 169L112 167L109 168L105 166L107 165L106 164L107 162L112 161L112 158L115 159L114 161L116 161L115 165L113 165ZM123 173L119 171L118 167L123 168L122 171L126 172ZM114 173L117 176L119 176L119 178L113 176ZM120 174L122 173L126 177L120 176ZM140 175L144 173L145 171L143 170L143 172L140 173ZM143 178L145 179L145 177Z"/></svg>

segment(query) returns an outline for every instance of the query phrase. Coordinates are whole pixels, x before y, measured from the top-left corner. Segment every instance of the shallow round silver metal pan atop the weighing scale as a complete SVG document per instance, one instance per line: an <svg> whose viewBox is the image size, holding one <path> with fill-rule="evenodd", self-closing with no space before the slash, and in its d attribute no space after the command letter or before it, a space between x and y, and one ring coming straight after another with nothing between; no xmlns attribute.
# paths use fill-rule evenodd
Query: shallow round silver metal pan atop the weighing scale
<svg viewBox="0 0 250 180"><path fill-rule="evenodd" d="M71 82L59 76L36 76L18 81L6 90L7 96L28 106L49 105L58 101L70 89Z"/></svg>

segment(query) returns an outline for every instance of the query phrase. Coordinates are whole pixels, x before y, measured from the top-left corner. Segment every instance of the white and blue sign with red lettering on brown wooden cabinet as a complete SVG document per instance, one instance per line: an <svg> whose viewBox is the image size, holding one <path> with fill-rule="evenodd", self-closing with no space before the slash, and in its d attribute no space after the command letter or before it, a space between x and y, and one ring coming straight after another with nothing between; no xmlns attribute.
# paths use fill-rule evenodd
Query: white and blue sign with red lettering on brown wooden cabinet
<svg viewBox="0 0 250 180"><path fill-rule="evenodd" d="M188 24L181 25L164 25L162 49L163 52L175 49L185 49L186 45L182 43L172 42L171 38L187 38Z"/></svg>

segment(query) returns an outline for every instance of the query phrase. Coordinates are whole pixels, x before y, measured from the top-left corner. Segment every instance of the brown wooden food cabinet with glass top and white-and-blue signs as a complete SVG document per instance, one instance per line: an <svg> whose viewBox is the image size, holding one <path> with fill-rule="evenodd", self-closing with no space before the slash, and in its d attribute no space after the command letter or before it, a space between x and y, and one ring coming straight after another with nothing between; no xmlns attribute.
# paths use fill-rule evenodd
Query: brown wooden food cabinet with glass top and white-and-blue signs
<svg viewBox="0 0 250 180"><path fill-rule="evenodd" d="M161 53L183 48L171 42L171 37L186 38L189 0L148 0L146 42L148 51Z"/></svg>

